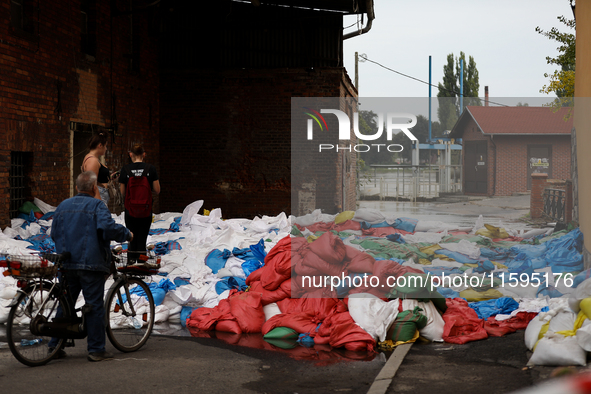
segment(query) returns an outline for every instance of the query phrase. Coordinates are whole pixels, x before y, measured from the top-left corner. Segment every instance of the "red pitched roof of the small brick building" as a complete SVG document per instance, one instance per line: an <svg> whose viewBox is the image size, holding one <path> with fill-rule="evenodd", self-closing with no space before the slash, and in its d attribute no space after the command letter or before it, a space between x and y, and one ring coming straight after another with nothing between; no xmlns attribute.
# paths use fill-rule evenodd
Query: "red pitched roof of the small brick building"
<svg viewBox="0 0 591 394"><path fill-rule="evenodd" d="M486 135L570 134L573 127L573 115L568 117L570 110L568 107L555 111L550 107L467 106L450 136L461 137L469 118L474 119Z"/></svg>

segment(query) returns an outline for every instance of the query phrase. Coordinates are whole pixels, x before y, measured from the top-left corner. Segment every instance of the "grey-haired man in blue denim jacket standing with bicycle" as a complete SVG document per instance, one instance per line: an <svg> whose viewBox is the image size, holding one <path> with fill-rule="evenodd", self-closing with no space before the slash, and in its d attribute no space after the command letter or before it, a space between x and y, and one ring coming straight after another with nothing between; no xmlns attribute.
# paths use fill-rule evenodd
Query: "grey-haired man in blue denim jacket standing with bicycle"
<svg viewBox="0 0 591 394"><path fill-rule="evenodd" d="M105 307L103 295L105 281L111 267L111 240L131 241L133 233L117 224L101 200L94 198L97 189L96 174L81 173L76 179L78 195L62 201L55 210L51 225L51 238L56 253L70 252L72 257L64 263L72 301L80 291L92 309L85 315L88 331L88 360L112 359L105 350ZM52 347L52 339L49 347ZM55 346L55 343L53 344ZM65 357L60 350L58 357Z"/></svg>

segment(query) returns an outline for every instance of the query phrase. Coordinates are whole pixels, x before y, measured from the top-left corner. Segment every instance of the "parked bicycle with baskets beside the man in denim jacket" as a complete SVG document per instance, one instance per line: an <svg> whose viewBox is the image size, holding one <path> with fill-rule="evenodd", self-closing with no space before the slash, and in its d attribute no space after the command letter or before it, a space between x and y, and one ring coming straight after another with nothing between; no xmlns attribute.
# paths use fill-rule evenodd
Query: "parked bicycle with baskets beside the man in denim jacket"
<svg viewBox="0 0 591 394"><path fill-rule="evenodd" d="M116 250L117 252L117 250ZM106 332L113 346L124 353L140 349L154 327L154 298L144 278L158 272L160 258L140 256L140 264L127 265L124 254L113 254L113 284L105 298ZM84 315L88 306L75 308L63 262L69 253L8 255L0 260L4 275L17 279L18 292L10 303L6 322L8 346L21 363L35 367L47 364L74 339L86 337ZM57 317L58 307L61 317ZM52 338L55 347L48 348Z"/></svg>

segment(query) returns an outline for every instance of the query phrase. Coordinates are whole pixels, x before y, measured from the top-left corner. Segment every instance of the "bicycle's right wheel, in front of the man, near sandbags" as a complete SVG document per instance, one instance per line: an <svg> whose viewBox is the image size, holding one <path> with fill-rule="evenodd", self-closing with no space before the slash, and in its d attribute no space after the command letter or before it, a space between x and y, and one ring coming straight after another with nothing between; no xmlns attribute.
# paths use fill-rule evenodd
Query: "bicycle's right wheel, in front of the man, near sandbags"
<svg viewBox="0 0 591 394"><path fill-rule="evenodd" d="M139 278L116 281L105 305L107 336L122 352L141 348L154 328L154 298L146 283Z"/></svg>

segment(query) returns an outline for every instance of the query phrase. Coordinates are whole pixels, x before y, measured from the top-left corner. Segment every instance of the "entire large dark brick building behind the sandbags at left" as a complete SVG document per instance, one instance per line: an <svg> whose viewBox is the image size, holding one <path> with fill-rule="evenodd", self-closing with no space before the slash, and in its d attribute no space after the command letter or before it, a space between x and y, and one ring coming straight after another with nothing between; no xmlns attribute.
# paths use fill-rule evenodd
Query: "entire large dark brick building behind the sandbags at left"
<svg viewBox="0 0 591 394"><path fill-rule="evenodd" d="M291 97L356 96L343 67L343 15L373 13L372 4L6 1L0 226L33 197L58 205L73 195L98 131L109 133L112 170L144 144L162 186L156 213L200 199L224 217L292 213ZM351 156L335 154L335 177L317 179L317 208L354 209Z"/></svg>

